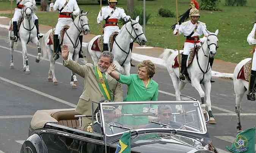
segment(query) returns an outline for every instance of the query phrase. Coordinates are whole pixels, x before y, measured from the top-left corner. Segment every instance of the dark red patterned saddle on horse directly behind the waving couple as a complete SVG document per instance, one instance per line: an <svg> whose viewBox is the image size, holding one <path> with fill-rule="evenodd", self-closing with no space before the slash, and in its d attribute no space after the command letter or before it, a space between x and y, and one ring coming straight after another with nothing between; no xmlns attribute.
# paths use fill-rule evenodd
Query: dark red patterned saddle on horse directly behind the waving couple
<svg viewBox="0 0 256 153"><path fill-rule="evenodd" d="M110 37L109 37L109 46L110 46L110 51L112 51L113 48L113 43L115 41L116 36L118 35L119 32L113 32ZM93 45L91 46L91 50L93 51L100 51L103 52L103 35L98 37L94 42Z"/></svg>

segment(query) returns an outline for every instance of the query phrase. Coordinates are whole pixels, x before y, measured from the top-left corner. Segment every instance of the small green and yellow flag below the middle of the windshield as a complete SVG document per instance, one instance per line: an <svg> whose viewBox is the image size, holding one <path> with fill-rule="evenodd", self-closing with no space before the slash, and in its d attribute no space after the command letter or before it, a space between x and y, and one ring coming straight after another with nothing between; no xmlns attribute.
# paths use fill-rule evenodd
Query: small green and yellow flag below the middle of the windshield
<svg viewBox="0 0 256 153"><path fill-rule="evenodd" d="M115 153L130 153L131 152L131 131L125 132L116 147Z"/></svg>

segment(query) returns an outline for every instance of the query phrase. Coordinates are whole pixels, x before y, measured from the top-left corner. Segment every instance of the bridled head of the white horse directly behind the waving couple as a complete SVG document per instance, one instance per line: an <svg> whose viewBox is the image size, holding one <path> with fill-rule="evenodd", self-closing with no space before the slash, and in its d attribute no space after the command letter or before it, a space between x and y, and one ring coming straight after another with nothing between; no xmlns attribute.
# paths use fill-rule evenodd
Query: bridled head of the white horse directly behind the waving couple
<svg viewBox="0 0 256 153"><path fill-rule="evenodd" d="M136 41L139 45L145 45L148 40L144 35L143 28L139 23L140 17L137 16L135 20L130 19L130 28L126 28L131 35L133 41Z"/></svg>

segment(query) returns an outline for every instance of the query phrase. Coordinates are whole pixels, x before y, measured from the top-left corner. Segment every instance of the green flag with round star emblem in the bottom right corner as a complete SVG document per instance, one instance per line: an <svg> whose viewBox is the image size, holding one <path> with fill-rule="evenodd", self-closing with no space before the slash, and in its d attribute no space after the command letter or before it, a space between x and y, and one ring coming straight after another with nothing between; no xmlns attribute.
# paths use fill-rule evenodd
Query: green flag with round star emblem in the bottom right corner
<svg viewBox="0 0 256 153"><path fill-rule="evenodd" d="M232 153L254 153L255 150L255 127L238 133L231 148L226 148Z"/></svg>

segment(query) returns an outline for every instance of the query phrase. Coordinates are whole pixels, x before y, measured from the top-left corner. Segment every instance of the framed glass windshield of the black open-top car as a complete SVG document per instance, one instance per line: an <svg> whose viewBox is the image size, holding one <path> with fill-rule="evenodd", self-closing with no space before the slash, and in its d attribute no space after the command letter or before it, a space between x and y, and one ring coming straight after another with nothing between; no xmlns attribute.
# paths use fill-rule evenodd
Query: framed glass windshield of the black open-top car
<svg viewBox="0 0 256 153"><path fill-rule="evenodd" d="M152 128L206 133L201 107L195 101L101 103L101 112L107 135Z"/></svg>

